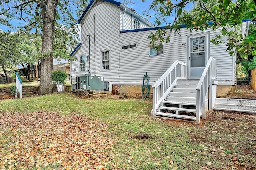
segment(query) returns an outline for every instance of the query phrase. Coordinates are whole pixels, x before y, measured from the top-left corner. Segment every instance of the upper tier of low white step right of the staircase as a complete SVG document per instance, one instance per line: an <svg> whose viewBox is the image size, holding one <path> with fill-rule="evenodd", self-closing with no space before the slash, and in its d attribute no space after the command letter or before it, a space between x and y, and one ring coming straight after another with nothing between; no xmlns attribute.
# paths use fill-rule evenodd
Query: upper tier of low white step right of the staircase
<svg viewBox="0 0 256 170"><path fill-rule="evenodd" d="M256 105L256 100L216 98L215 103L226 103L226 104L233 104L233 105Z"/></svg>

